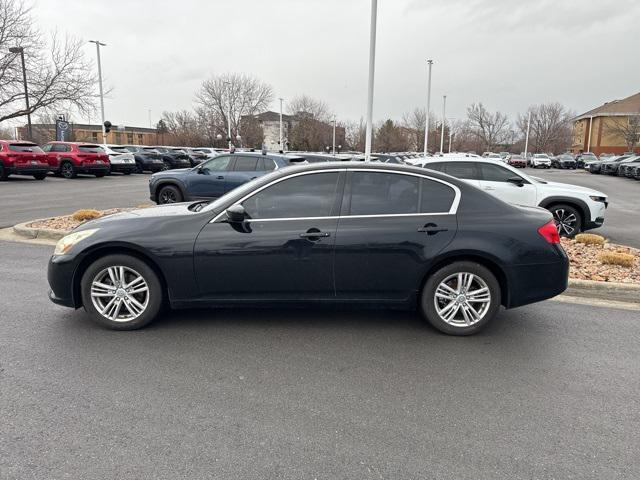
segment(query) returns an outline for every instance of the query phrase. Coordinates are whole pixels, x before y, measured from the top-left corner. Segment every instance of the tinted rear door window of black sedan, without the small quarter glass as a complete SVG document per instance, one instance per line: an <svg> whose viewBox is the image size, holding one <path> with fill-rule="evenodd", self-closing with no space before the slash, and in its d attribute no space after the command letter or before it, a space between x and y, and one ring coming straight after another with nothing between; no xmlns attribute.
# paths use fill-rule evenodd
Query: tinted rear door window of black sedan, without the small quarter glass
<svg viewBox="0 0 640 480"><path fill-rule="evenodd" d="M419 178L382 172L353 172L350 215L418 213Z"/></svg>

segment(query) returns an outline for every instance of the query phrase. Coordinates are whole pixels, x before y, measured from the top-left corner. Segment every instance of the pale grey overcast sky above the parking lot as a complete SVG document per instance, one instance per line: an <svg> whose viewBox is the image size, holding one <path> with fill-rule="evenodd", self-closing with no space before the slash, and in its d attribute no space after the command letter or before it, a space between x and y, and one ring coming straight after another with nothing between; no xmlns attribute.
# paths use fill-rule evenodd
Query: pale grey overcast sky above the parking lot
<svg viewBox="0 0 640 480"><path fill-rule="evenodd" d="M193 106L203 79L245 72L340 119L366 110L370 0L36 0L47 29L99 39L107 119L148 126ZM515 117L558 101L581 113L640 90L638 0L379 0L374 119L472 102ZM95 47L87 44L95 58ZM277 110L277 100L272 105ZM285 107L286 109L286 107ZM86 119L82 119L86 120ZM98 116L91 119L98 122Z"/></svg>

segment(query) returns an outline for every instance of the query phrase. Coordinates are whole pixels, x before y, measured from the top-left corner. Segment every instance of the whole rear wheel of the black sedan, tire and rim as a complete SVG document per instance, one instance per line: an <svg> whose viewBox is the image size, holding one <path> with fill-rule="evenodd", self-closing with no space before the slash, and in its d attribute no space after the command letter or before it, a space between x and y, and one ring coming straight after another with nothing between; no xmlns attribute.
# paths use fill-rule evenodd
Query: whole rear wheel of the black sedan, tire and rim
<svg viewBox="0 0 640 480"><path fill-rule="evenodd" d="M500 284L491 271L475 262L454 262L426 281L420 299L422 314L449 335L482 330L500 308Z"/></svg>

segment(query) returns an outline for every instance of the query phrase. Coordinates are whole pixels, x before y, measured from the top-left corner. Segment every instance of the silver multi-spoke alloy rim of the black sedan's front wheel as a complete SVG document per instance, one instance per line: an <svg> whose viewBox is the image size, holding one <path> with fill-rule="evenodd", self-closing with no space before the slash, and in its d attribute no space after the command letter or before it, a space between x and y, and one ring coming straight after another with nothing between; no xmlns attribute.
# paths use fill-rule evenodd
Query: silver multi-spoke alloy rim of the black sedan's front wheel
<svg viewBox="0 0 640 480"><path fill-rule="evenodd" d="M149 286L132 268L108 267L93 278L91 301L103 317L114 322L130 322L146 310Z"/></svg>

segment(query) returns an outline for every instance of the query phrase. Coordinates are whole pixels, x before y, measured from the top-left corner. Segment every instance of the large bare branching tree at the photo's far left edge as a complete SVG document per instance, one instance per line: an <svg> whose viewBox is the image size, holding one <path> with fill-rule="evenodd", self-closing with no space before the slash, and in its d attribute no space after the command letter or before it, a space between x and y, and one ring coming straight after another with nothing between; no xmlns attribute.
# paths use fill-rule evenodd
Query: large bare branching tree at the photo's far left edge
<svg viewBox="0 0 640 480"><path fill-rule="evenodd" d="M21 0L0 0L0 122L40 110L93 111L96 77L82 45L78 39L56 34L47 45ZM24 49L28 111L20 54L5 53L12 47Z"/></svg>

